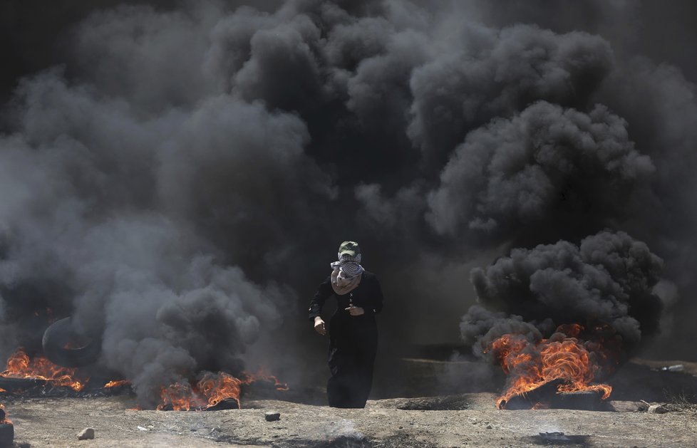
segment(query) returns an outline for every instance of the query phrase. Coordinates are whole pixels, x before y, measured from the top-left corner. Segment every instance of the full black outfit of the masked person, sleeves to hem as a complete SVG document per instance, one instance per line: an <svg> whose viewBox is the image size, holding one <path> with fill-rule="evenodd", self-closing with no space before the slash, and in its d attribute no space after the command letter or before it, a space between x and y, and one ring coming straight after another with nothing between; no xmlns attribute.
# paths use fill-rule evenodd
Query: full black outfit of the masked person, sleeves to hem
<svg viewBox="0 0 697 448"><path fill-rule="evenodd" d="M324 302L336 296L336 313L329 319L329 370L326 394L331 407L366 407L373 383L373 363L378 348L375 314L383 308L383 293L375 274L363 271L361 283L350 293L338 296L331 276L319 285L310 302L309 318L319 316ZM351 316L345 308L363 308Z"/></svg>

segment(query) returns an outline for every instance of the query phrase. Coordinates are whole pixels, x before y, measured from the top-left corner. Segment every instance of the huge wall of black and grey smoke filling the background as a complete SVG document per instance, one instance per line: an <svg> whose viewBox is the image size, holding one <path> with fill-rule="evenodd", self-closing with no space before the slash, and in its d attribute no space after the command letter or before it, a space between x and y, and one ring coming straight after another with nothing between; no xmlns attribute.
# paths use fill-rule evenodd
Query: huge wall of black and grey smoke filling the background
<svg viewBox="0 0 697 448"><path fill-rule="evenodd" d="M455 339L465 273L538 244L547 261L522 265L558 272L521 274L537 289L520 300L595 269L598 291L562 308L595 303L630 340L657 325L634 301L693 313L694 85L644 57L645 6L564 3L558 21L512 0L129 1L56 19L60 51L33 53L4 108L2 355L31 346L37 311L73 315L153 405L164 383L304 341L344 239L383 283L385 344ZM567 318L520 311L487 276L477 295L512 327ZM468 316L481 335L496 312Z"/></svg>

